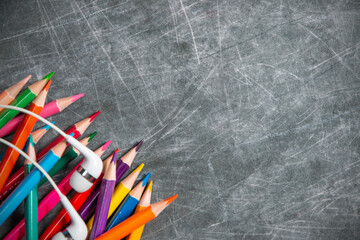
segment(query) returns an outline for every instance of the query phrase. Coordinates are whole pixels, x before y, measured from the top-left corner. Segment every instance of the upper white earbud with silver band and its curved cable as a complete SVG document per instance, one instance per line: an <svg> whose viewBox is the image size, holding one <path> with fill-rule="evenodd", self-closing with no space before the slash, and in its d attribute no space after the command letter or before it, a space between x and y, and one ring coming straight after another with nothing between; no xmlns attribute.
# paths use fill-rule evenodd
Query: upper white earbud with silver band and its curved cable
<svg viewBox="0 0 360 240"><path fill-rule="evenodd" d="M102 172L102 161L99 156L97 156L93 151L91 151L89 148L85 147L83 144L81 144L76 138L64 133L60 128L46 120L45 118L30 112L26 109L15 107L15 106L9 106L9 105L0 105L0 108L8 108L13 109L19 112L23 112L26 114L29 114L43 123L50 126L52 129L57 131L60 135L62 135L68 143L70 143L73 147L79 150L81 154L84 156L84 161L80 165L80 167L73 173L73 175L70 178L70 185L71 187L77 191L77 192L85 192L89 190L89 188L92 186L93 182L100 176Z"/></svg>

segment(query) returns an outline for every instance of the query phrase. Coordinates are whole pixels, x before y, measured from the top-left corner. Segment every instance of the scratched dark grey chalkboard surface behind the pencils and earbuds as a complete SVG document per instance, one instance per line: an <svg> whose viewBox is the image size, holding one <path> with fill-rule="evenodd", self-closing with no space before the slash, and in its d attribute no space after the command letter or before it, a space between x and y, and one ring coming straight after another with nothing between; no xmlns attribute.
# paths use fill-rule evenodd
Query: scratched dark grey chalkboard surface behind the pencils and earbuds
<svg viewBox="0 0 360 240"><path fill-rule="evenodd" d="M359 239L360 1L4 0L0 23L1 89L54 71L49 101L85 93L56 124L145 140L153 202L179 198L143 239Z"/></svg>

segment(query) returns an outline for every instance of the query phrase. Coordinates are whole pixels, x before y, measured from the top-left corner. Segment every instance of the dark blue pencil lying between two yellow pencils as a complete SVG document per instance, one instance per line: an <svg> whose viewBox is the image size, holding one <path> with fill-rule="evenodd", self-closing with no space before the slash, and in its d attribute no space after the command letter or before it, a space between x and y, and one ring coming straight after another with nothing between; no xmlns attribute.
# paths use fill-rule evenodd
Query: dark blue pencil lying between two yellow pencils
<svg viewBox="0 0 360 240"><path fill-rule="evenodd" d="M115 227L116 225L127 219L135 210L150 175L151 173L148 173L145 178L141 182L139 182L134 187L134 189L132 189L130 193L126 196L124 201L121 203L121 205L111 217L109 224L106 227L106 231L110 230L111 228Z"/></svg>

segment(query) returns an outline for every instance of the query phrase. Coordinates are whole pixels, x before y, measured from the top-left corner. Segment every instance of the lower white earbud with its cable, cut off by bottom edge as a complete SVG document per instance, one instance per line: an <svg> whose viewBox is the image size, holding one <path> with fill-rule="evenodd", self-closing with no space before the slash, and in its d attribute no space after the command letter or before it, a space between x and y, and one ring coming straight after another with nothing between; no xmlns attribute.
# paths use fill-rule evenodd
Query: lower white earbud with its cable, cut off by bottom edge
<svg viewBox="0 0 360 240"><path fill-rule="evenodd" d="M18 151L24 158L28 159L39 171L44 174L44 176L48 179L50 184L54 187L55 191L59 195L60 201L63 204L64 208L68 212L70 218L71 218L71 224L62 232L57 233L52 239L53 240L85 240L88 234L86 224L80 217L80 215L77 213L73 205L71 205L69 199L61 193L60 189L54 182L54 180L49 176L49 174L32 158L30 158L26 153L24 153L21 149L16 147L14 144L0 138L0 142L8 145L9 147L12 147L16 151ZM80 150L79 150L80 151Z"/></svg>

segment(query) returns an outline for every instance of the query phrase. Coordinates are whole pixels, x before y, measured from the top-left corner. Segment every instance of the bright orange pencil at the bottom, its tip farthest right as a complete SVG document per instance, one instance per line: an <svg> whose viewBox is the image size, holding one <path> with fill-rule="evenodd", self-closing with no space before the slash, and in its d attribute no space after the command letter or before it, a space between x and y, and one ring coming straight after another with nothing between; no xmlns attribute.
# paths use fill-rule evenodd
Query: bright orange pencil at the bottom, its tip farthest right
<svg viewBox="0 0 360 240"><path fill-rule="evenodd" d="M151 204L149 207L134 214L111 230L105 232L103 235L96 238L96 240L121 240L138 227L156 218L172 201L175 200L175 198L177 198L177 195Z"/></svg>

